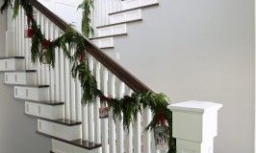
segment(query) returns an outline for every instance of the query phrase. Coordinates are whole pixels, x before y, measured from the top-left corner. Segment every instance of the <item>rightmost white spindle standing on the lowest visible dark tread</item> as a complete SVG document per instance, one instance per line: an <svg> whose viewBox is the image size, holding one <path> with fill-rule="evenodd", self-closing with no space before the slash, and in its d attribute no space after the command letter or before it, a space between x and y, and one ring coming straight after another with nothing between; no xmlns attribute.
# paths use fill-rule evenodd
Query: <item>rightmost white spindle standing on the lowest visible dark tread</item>
<svg viewBox="0 0 256 153"><path fill-rule="evenodd" d="M100 63L97 60L93 60L93 76L95 77L97 81L97 87L100 89ZM100 101L99 98L95 99L94 103L94 122L95 122L95 136L94 136L94 142L95 143L101 143L101 133L100 133L100 119L99 119L99 106Z"/></svg>

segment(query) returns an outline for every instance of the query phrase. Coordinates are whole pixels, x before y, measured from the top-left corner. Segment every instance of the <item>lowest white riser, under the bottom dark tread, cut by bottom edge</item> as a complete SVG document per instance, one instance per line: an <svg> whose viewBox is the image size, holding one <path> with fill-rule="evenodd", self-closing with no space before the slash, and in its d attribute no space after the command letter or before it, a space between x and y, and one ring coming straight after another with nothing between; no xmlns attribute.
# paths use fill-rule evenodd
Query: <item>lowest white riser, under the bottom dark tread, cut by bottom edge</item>
<svg viewBox="0 0 256 153"><path fill-rule="evenodd" d="M96 149L87 150L65 142L52 140L52 150L55 153L99 153L100 149L101 148L99 147Z"/></svg>

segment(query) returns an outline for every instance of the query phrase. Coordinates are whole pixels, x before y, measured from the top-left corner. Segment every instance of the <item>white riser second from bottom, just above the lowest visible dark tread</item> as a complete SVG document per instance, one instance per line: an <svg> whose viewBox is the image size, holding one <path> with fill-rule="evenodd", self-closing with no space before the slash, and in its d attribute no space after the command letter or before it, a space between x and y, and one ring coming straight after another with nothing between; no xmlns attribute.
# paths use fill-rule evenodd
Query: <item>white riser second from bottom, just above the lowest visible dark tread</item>
<svg viewBox="0 0 256 153"><path fill-rule="evenodd" d="M46 120L38 120L38 131L66 141L81 139L82 125L66 126Z"/></svg>

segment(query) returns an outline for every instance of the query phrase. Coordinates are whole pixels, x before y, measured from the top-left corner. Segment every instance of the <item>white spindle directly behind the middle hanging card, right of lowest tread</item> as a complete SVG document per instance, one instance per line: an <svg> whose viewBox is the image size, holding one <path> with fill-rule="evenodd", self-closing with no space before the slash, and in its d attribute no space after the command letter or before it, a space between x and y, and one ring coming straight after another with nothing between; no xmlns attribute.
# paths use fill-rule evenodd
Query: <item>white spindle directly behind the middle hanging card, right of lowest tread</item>
<svg viewBox="0 0 256 153"><path fill-rule="evenodd" d="M103 91L103 94L105 96L108 96L108 71L105 67L102 66L101 68L101 88ZM101 131L102 131L102 153L109 153L109 143L108 143L108 119L102 119L101 120Z"/></svg>

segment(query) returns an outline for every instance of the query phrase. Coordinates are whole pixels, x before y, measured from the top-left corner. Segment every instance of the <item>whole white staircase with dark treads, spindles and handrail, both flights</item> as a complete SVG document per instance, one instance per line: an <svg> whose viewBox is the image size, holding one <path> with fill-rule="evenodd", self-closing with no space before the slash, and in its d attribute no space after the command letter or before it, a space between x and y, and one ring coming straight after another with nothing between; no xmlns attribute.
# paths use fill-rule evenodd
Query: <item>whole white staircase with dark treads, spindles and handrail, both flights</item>
<svg viewBox="0 0 256 153"><path fill-rule="evenodd" d="M67 24L37 1L29 1L34 6L36 20L46 38L58 37ZM89 43L87 57L90 70L97 82L100 82L98 88L104 95L112 98L122 98L133 92L151 91L99 48L113 48L115 36L127 35L127 24L142 20L141 9L157 6L158 3L155 0L126 0L120 3L121 8L116 11L115 8L108 14L109 21L98 20L93 23L97 31L96 37L92 37L91 41L98 47L86 39ZM153 133L143 132L143 128L151 121L148 108L130 125L129 134L127 130L123 130L122 120L115 122L112 119L112 111L109 119L100 120L98 98L94 104L81 105L81 84L70 75L70 61L64 58L63 51L55 51L55 69L39 63L37 66L33 65L30 62L31 40L24 37L26 15L23 9L19 10L14 22L14 31L7 32L13 33L13 39L12 36L7 39L7 46L14 46L7 48L13 48L13 51L7 51L6 55L9 56L0 58L0 71L5 73L5 84L13 86L14 98L24 101L25 115L38 120L36 133L52 139L50 152L158 152ZM73 50L70 48L69 52Z"/></svg>

